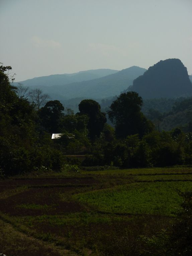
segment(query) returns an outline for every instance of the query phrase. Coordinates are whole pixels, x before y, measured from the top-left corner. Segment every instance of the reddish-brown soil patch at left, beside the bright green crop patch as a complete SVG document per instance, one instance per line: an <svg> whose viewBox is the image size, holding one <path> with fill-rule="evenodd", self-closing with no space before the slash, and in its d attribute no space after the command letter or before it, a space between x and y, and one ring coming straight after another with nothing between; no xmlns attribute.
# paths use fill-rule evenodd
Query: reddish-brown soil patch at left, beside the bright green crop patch
<svg viewBox="0 0 192 256"><path fill-rule="evenodd" d="M13 216L37 216L84 210L77 202L61 199L60 194L70 190L69 187L31 188L7 199L0 199L0 211Z"/></svg>

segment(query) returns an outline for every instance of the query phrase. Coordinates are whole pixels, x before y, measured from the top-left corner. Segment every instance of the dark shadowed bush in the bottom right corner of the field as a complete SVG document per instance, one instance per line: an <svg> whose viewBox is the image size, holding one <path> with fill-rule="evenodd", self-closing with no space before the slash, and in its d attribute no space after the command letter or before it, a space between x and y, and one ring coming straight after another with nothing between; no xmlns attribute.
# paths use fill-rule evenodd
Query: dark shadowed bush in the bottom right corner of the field
<svg viewBox="0 0 192 256"><path fill-rule="evenodd" d="M179 192L179 191L178 191ZM141 236L144 241L140 255L182 255L192 254L192 191L179 192L183 197L182 211L173 224L157 236Z"/></svg>

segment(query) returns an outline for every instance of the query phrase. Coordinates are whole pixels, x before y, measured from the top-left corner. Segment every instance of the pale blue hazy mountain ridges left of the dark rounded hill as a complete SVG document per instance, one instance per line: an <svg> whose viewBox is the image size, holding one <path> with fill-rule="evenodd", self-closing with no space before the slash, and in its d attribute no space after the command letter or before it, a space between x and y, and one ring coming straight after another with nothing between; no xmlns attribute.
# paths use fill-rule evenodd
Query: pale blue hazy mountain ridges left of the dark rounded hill
<svg viewBox="0 0 192 256"><path fill-rule="evenodd" d="M111 97L114 95L119 95L129 85L132 85L132 82L135 78L142 75L145 71L146 69L136 66L123 69L121 71L92 70L92 77L93 75L102 76L102 74L104 75L106 74L106 72L111 74L105 75L100 78L85 81L85 77L88 78L88 76L90 75L89 70L84 71L83 73L79 72L75 75L72 75L71 77L69 76L69 74L52 75L48 77L29 79L26 81L21 81L20 83L22 83L25 86L30 86L30 88L39 88L44 93L48 93L53 99L58 100L66 100L76 97L101 99ZM65 83L62 82L62 77L60 76L63 76L63 81L65 80ZM66 77L73 79L83 79L84 77L84 81L79 81L75 83L71 82L66 84ZM59 78L59 80L57 80L57 78ZM49 84L49 86L45 86L46 81ZM53 84L52 86L50 86L51 82ZM15 85L17 85L17 83Z"/></svg>

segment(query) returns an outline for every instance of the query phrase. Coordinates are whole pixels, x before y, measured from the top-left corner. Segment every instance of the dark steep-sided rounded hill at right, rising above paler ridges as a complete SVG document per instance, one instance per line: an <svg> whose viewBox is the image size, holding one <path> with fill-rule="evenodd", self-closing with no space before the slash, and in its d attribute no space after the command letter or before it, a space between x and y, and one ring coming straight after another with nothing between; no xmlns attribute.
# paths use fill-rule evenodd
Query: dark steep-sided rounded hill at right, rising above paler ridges
<svg viewBox="0 0 192 256"><path fill-rule="evenodd" d="M168 59L137 77L128 90L137 92L143 99L186 97L192 95L192 84L183 63Z"/></svg>

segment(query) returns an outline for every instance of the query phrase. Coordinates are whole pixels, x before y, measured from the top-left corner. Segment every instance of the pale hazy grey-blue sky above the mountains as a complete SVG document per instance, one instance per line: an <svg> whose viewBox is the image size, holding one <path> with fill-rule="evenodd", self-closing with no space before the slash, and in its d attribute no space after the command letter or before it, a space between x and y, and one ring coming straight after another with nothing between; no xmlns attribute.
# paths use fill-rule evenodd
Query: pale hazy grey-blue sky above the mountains
<svg viewBox="0 0 192 256"><path fill-rule="evenodd" d="M179 58L192 74L192 0L0 0L15 81Z"/></svg>

